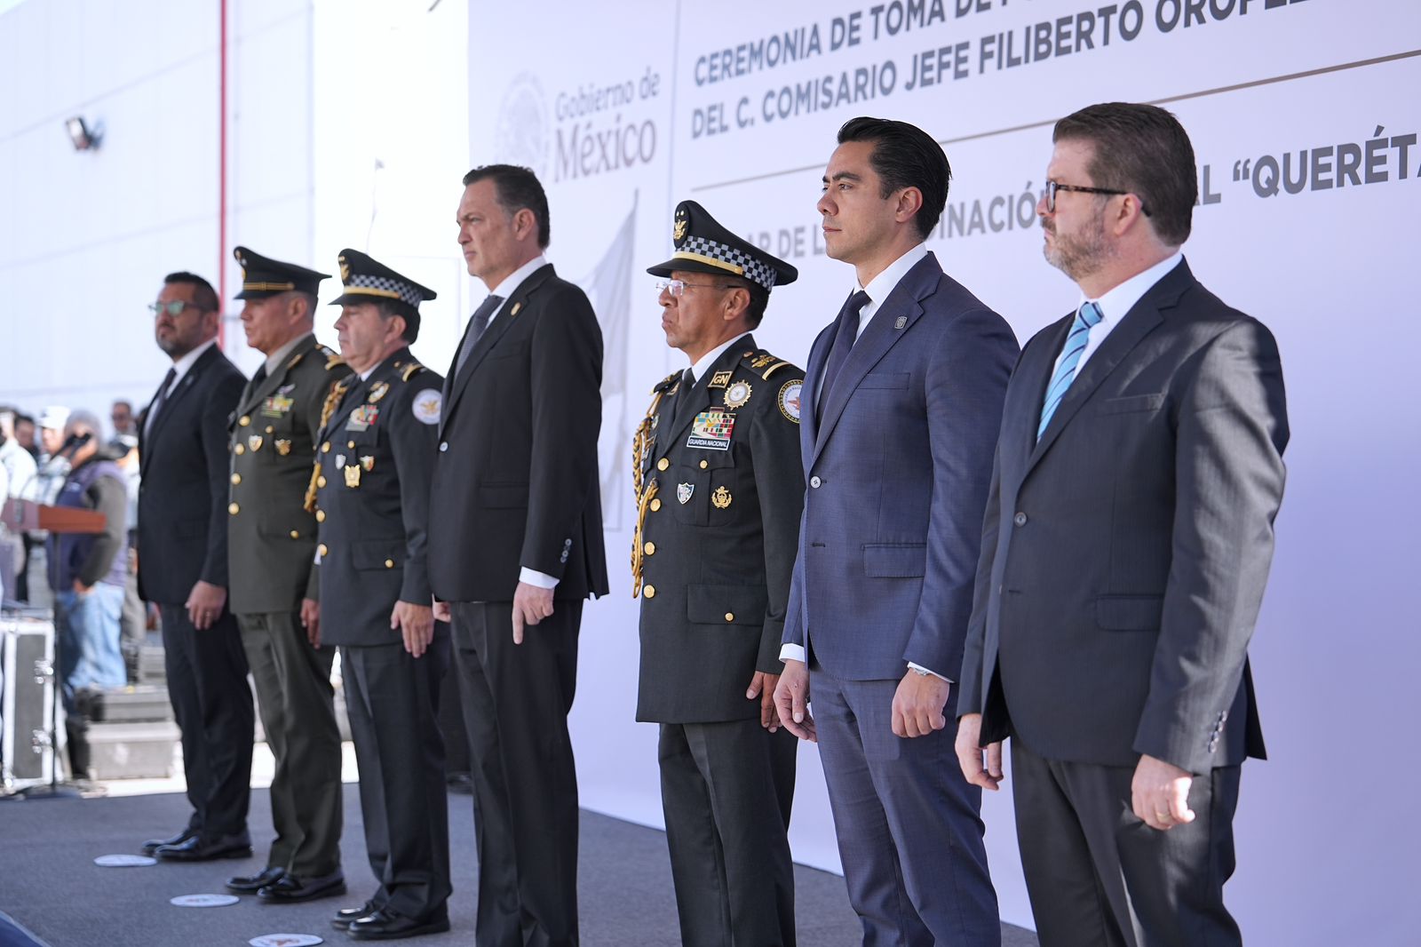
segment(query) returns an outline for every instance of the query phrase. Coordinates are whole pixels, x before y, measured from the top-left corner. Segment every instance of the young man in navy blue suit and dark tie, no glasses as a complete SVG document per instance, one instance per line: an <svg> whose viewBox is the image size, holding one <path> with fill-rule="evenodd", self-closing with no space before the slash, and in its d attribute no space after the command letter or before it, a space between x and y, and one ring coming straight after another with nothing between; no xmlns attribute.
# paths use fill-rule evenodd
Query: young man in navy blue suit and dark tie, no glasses
<svg viewBox="0 0 1421 947"><path fill-rule="evenodd" d="M980 789L944 728L1017 346L924 247L952 176L932 137L855 118L838 142L818 212L857 286L810 350L774 700L818 739L864 944L998 944Z"/></svg>

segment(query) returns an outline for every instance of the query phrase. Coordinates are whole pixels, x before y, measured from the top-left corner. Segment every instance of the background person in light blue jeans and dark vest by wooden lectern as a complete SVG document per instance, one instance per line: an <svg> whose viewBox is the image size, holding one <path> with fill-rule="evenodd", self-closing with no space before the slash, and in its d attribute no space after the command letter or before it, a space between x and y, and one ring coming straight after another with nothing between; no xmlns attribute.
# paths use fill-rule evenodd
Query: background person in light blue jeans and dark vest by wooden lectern
<svg viewBox="0 0 1421 947"><path fill-rule="evenodd" d="M70 771L75 779L88 779L88 738L77 694L84 688L122 687L128 680L119 650L128 486L112 454L99 446L99 421L88 411L68 415L55 454L67 456L71 466L54 505L104 515L99 533L50 533L48 539Z"/></svg>

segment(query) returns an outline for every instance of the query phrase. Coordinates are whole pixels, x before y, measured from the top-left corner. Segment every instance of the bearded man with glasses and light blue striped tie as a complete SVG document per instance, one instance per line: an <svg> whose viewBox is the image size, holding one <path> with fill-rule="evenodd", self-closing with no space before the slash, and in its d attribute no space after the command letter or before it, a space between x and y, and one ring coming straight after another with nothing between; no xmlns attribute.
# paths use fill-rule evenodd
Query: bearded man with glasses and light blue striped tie
<svg viewBox="0 0 1421 947"><path fill-rule="evenodd" d="M996 789L1012 737L1046 947L1239 944L1223 883L1241 764L1263 756L1248 641L1283 495L1277 346L1184 262L1174 115L1091 105L1054 141L1036 210L1081 300L1007 390L958 758Z"/></svg>

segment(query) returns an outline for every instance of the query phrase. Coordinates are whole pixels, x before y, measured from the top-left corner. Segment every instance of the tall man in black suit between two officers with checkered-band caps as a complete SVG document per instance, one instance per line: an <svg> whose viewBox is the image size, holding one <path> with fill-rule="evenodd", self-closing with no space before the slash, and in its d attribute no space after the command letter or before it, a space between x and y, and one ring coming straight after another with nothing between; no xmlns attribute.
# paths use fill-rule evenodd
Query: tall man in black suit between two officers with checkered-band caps
<svg viewBox="0 0 1421 947"><path fill-rule="evenodd" d="M459 245L489 287L445 381L429 583L452 614L473 755L479 947L577 943L567 714L583 600L607 594L597 435L603 333L543 256L531 171L463 179Z"/></svg>

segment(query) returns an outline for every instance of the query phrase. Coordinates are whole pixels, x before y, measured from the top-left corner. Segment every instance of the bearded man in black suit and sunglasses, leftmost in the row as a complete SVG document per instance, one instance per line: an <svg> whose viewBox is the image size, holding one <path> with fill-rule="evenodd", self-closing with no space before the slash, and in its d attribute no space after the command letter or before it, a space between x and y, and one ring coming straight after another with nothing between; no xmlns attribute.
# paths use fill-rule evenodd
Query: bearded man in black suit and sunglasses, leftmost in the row
<svg viewBox="0 0 1421 947"><path fill-rule="evenodd" d="M144 850L178 860L246 857L254 715L227 610L227 415L246 380L217 347L222 313L207 280L172 273L149 309L173 367L138 425L138 589L162 614L192 816Z"/></svg>

